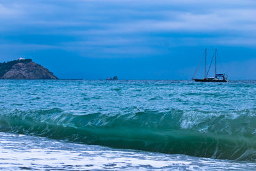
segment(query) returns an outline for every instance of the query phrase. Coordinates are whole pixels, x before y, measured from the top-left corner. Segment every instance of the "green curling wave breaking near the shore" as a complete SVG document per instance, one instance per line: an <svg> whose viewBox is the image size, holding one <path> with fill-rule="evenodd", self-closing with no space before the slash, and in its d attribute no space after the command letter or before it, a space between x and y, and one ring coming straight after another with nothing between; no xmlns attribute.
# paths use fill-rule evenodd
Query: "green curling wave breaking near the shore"
<svg viewBox="0 0 256 171"><path fill-rule="evenodd" d="M256 110L76 115L60 108L2 110L0 131L168 154L256 160Z"/></svg>

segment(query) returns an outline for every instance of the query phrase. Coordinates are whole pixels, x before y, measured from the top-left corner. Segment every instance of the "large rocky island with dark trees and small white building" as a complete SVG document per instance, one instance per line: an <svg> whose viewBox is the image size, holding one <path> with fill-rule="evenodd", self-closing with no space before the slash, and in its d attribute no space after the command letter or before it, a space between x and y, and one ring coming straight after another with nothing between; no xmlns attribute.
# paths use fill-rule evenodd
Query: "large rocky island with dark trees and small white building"
<svg viewBox="0 0 256 171"><path fill-rule="evenodd" d="M32 59L0 63L0 79L58 79L51 71Z"/></svg>

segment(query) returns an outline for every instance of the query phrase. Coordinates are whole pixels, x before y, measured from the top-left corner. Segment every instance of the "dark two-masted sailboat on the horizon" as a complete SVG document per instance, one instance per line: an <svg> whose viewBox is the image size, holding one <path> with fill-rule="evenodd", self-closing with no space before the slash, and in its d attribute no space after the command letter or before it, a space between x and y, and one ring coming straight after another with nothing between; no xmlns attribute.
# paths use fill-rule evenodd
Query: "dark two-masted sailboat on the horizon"
<svg viewBox="0 0 256 171"><path fill-rule="evenodd" d="M195 80L196 82L228 82L228 79L227 79L227 77L225 77L225 73L217 73L216 71L217 71L217 49L215 49L215 54L214 54L214 56L215 56L215 77L207 77L208 76L208 73L209 73L209 70L210 70L210 68L211 68L211 65L212 65L212 60L211 60L211 64L210 64L210 66L209 66L209 69L208 69L208 71L207 71L207 73L206 73L206 59L207 59L207 48L205 48L205 68L204 68L204 78L202 78L202 79L198 79L198 78L194 78L195 77L195 75L196 75L196 71L198 70L198 67L200 66L200 63L201 63L201 61L202 61L202 59L201 59L201 61L200 61L200 63L198 64L198 66L197 66L197 68L196 68L196 71L195 71L195 73L194 73L194 75L193 75L193 78L192 78L192 80ZM213 57L214 56L212 56L212 59L213 59ZM204 57L204 56L203 56Z"/></svg>

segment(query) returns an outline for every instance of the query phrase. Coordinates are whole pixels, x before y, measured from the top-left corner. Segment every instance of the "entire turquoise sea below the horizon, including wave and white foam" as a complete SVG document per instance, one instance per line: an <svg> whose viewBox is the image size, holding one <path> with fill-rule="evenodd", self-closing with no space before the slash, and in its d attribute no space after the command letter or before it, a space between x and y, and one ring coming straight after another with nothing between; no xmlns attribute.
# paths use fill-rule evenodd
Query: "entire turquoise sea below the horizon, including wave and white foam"
<svg viewBox="0 0 256 171"><path fill-rule="evenodd" d="M256 170L255 97L255 80L0 80L0 170Z"/></svg>

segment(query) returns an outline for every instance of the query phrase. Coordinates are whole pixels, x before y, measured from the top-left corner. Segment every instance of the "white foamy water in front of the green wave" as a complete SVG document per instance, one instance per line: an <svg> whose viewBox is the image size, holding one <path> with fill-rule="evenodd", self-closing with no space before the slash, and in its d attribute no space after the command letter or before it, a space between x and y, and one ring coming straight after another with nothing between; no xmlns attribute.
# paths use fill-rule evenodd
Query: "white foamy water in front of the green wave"
<svg viewBox="0 0 256 171"><path fill-rule="evenodd" d="M3 136L1 136L3 135ZM111 149L47 138L0 133L0 169L66 170L218 170L252 168L253 163L195 158L179 154Z"/></svg>

